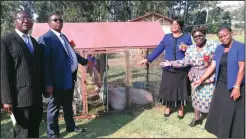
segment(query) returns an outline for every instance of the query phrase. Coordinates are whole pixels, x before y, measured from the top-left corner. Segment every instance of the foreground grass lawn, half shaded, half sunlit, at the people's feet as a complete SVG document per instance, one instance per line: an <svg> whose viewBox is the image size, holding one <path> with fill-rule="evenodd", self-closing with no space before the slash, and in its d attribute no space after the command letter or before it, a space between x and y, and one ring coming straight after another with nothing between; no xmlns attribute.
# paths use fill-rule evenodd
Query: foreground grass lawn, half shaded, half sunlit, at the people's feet
<svg viewBox="0 0 246 139"><path fill-rule="evenodd" d="M64 121L60 121L60 133L63 138L215 138L204 130L204 124L189 127L193 118L193 109L187 106L184 119L177 118L177 112L169 118L163 117L163 107L130 113L110 113L93 120L78 120L76 124L86 128L84 133L68 133ZM9 117L1 114L1 137L12 137L12 127ZM44 117L45 119L45 117ZM40 136L46 137L46 122L40 127Z"/></svg>

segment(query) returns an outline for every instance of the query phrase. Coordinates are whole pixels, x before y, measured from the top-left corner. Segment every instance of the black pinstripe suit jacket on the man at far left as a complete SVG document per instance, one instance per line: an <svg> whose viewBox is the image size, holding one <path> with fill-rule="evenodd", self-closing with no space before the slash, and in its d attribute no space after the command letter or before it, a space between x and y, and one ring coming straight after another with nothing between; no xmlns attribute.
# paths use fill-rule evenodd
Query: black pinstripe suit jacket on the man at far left
<svg viewBox="0 0 246 139"><path fill-rule="evenodd" d="M43 50L31 37L34 55L16 33L1 38L1 102L17 107L42 105Z"/></svg>

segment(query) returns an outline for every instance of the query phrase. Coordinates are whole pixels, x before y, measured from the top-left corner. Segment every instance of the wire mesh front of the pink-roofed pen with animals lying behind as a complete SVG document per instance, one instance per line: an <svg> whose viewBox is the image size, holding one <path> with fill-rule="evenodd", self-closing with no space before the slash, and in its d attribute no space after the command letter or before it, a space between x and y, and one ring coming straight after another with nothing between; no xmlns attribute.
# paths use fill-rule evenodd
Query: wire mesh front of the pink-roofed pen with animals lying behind
<svg viewBox="0 0 246 139"><path fill-rule="evenodd" d="M98 75L87 66L84 67L86 75L78 71L74 89L74 115L80 115L85 111L83 105L88 105L90 112L93 109L121 111L154 106L159 93L162 73L159 64L163 55L146 66L137 66L137 62L143 60L151 51L151 48L93 51ZM86 76L85 86L82 83L83 76ZM97 85L95 76L100 77L101 87ZM82 91L83 87L86 87L86 92ZM83 93L86 95L82 95ZM85 99L87 103L83 103ZM47 108L47 99L44 99L44 107Z"/></svg>

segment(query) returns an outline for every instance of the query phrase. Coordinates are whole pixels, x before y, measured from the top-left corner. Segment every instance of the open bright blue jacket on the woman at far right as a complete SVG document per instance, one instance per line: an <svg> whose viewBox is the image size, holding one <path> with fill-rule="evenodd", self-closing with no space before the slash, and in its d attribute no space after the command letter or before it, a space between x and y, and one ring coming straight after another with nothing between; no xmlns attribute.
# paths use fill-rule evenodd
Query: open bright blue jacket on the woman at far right
<svg viewBox="0 0 246 139"><path fill-rule="evenodd" d="M216 61L216 82L218 79L219 74L219 68L220 68L220 59L224 53L225 47L223 44L219 45L217 49L215 50L213 60ZM227 60L227 89L231 90L233 86L235 85L235 82L237 80L237 73L239 70L238 62L239 61L245 61L245 45L238 41L233 41L232 46L230 48L230 51L228 52L228 60ZM245 78L243 79L241 85L243 85L245 82Z"/></svg>

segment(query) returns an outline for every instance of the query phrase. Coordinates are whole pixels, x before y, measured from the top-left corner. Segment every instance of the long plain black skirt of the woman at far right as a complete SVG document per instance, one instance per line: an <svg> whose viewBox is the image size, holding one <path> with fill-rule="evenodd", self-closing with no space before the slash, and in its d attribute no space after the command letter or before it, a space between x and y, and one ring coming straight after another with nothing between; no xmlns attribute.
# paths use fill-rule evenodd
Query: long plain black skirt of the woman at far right
<svg viewBox="0 0 246 139"><path fill-rule="evenodd" d="M219 138L244 138L245 86L241 88L241 97L235 102L230 98L227 83L218 81L205 129Z"/></svg>

